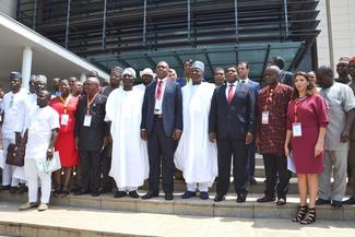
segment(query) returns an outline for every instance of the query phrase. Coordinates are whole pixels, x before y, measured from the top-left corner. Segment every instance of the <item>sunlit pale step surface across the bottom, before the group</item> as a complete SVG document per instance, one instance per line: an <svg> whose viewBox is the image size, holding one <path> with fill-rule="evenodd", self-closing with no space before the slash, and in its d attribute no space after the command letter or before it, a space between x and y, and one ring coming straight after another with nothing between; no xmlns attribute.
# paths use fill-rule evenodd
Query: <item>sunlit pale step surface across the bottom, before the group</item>
<svg viewBox="0 0 355 237"><path fill-rule="evenodd" d="M79 228L141 236L208 237L355 237L354 222L319 221L301 226L288 220L182 216L109 212L52 206L46 212L17 211L14 203L0 204L0 223ZM7 233L1 233L9 235Z"/></svg>

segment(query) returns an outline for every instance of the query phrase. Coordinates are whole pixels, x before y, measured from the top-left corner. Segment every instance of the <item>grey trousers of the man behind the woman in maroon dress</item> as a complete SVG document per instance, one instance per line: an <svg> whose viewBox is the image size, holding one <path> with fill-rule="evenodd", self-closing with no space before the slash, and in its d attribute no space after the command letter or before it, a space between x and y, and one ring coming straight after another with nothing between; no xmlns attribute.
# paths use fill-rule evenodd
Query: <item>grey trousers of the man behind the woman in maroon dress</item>
<svg viewBox="0 0 355 237"><path fill-rule="evenodd" d="M319 198L342 201L346 191L347 151L324 151L323 167L319 176Z"/></svg>

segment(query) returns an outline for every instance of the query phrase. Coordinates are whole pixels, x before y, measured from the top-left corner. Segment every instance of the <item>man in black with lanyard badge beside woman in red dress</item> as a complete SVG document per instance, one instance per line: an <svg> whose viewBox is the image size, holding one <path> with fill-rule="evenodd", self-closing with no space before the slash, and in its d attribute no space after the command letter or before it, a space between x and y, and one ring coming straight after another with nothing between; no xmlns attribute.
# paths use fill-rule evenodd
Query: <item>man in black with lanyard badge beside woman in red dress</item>
<svg viewBox="0 0 355 237"><path fill-rule="evenodd" d="M108 125L105 119L107 97L99 94L97 78L91 76L85 82L86 96L79 99L75 121L75 143L80 154L82 170L81 190L76 195L91 192L99 195L100 152L108 143Z"/></svg>

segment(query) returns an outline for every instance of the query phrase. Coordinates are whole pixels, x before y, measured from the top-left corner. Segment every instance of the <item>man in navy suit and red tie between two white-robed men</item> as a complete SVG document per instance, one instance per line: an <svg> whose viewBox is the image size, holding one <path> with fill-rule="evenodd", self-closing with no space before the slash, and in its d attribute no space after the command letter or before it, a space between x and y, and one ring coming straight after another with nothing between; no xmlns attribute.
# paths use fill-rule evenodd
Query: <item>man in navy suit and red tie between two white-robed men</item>
<svg viewBox="0 0 355 237"><path fill-rule="evenodd" d="M182 95L180 85L168 79L168 70L169 66L161 61L156 81L144 93L141 138L147 140L150 176L149 192L142 199L158 195L161 163L165 199L174 199L174 153L182 132Z"/></svg>

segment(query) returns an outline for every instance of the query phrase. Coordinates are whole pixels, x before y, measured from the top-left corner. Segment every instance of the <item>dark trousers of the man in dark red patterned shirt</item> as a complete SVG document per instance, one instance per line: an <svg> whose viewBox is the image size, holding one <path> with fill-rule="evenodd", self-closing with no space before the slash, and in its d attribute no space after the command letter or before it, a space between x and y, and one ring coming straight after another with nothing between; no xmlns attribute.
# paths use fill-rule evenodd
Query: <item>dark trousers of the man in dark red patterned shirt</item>
<svg viewBox="0 0 355 237"><path fill-rule="evenodd" d="M263 154L263 164L267 176L267 190L264 191L268 197L275 197L276 187L277 198L285 199L288 191L288 182L291 171L287 169L287 158L284 155Z"/></svg>

